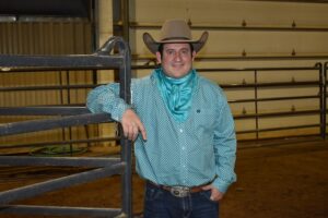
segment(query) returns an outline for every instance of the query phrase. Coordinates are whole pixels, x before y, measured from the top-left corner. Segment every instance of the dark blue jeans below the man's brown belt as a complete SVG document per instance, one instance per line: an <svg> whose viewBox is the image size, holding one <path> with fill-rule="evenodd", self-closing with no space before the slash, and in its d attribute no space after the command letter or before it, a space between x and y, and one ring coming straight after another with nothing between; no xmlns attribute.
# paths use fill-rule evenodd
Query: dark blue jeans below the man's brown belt
<svg viewBox="0 0 328 218"><path fill-rule="evenodd" d="M171 192L147 183L143 218L219 218L219 202L211 191L176 197Z"/></svg>

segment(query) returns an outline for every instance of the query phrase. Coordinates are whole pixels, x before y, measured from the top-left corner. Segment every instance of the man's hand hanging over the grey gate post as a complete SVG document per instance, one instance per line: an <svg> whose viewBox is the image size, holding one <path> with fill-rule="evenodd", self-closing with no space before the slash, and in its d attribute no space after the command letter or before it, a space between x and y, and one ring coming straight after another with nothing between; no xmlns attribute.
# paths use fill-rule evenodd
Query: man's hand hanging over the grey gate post
<svg viewBox="0 0 328 218"><path fill-rule="evenodd" d="M145 129L132 109L125 111L121 118L121 125L124 129L124 134L128 140L134 141L140 132L142 138L147 141Z"/></svg>

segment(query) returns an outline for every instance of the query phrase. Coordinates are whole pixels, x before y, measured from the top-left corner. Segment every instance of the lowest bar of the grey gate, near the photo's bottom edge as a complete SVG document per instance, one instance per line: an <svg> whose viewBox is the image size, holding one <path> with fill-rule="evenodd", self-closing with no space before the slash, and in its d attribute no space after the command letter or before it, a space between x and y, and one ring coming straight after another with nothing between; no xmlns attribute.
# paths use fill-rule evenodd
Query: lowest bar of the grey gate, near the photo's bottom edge
<svg viewBox="0 0 328 218"><path fill-rule="evenodd" d="M79 216L83 217L118 217L121 209L94 208L94 207L62 207L62 206L31 206L31 205L3 205L0 214L15 215L43 215L43 216Z"/></svg>

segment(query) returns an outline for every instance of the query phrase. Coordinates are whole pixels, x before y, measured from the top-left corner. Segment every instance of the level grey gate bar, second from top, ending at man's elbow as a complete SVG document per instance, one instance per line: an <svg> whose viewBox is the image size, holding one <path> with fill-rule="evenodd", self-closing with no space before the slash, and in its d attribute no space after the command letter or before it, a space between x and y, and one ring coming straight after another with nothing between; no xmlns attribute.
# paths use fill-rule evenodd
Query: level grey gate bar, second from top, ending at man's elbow
<svg viewBox="0 0 328 218"><path fill-rule="evenodd" d="M78 116L90 113L86 107L0 107L0 116Z"/></svg>

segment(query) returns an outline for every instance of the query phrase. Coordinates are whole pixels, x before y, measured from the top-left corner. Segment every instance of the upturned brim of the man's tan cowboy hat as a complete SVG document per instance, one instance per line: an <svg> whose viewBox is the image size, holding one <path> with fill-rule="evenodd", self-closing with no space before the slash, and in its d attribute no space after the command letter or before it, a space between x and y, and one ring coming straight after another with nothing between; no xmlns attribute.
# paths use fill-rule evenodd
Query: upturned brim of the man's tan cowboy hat
<svg viewBox="0 0 328 218"><path fill-rule="evenodd" d="M209 33L203 32L198 40L172 39L172 40L156 41L149 33L144 33L142 38L148 49L152 53L156 53L156 51L159 51L159 47L161 44L191 44L194 50L198 52L207 43L208 37L209 37Z"/></svg>

